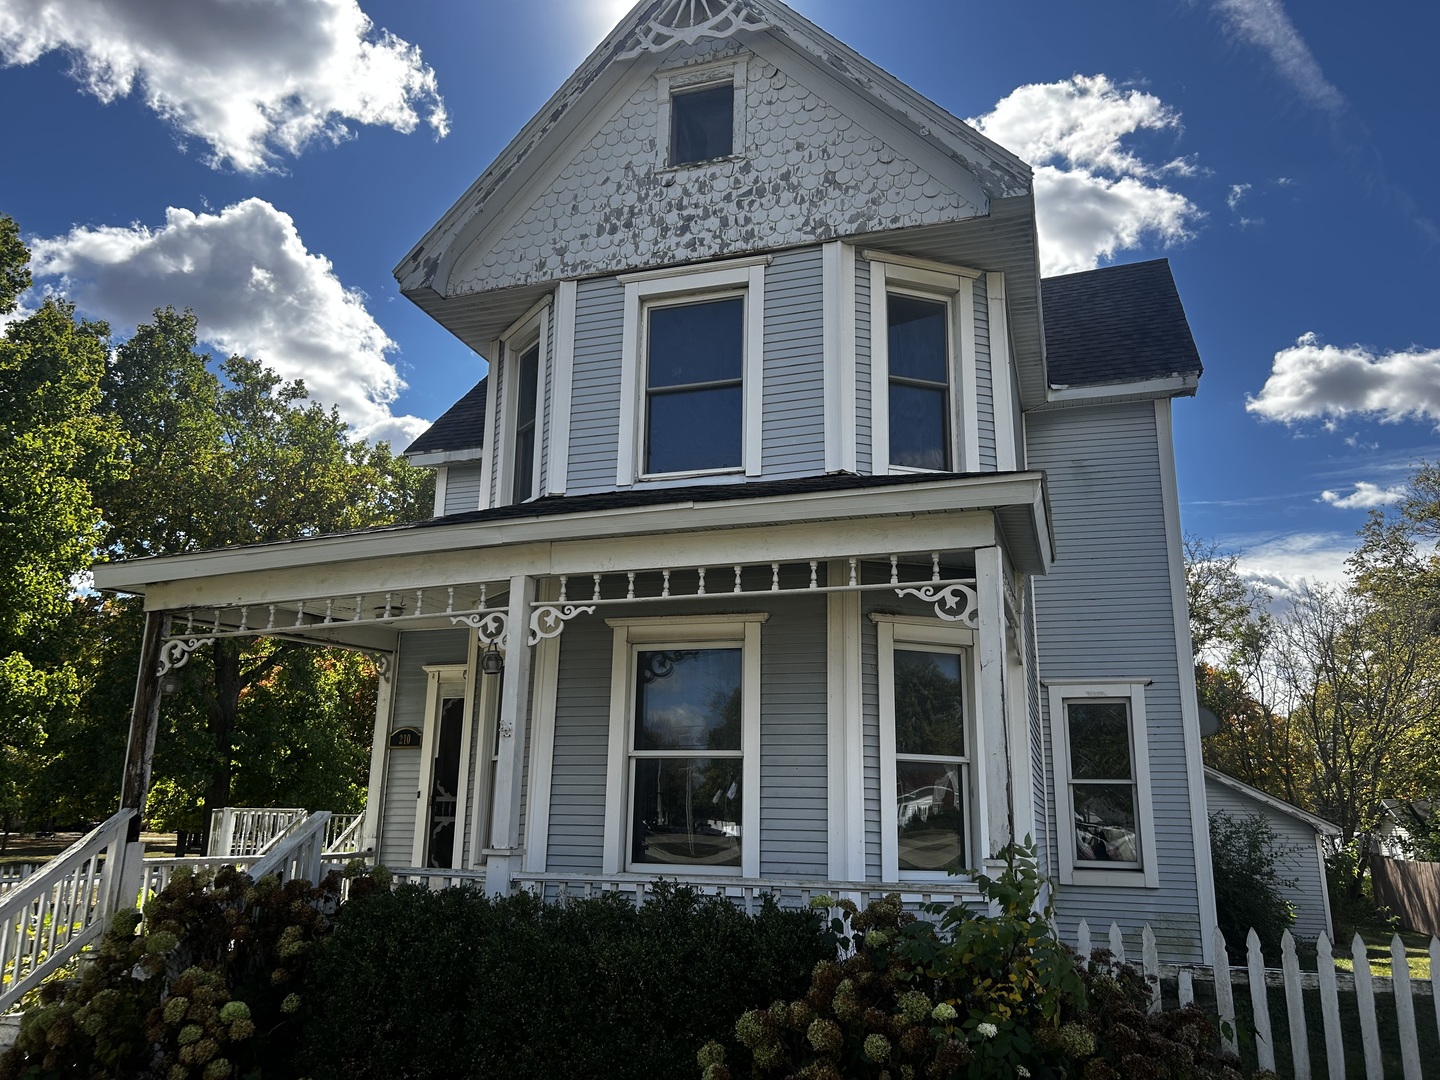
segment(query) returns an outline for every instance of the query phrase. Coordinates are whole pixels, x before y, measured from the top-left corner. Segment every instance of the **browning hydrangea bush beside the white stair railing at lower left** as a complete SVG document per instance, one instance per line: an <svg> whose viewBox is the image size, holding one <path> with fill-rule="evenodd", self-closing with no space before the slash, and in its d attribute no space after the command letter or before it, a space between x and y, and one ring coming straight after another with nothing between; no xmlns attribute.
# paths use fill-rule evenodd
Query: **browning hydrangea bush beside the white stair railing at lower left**
<svg viewBox="0 0 1440 1080"><path fill-rule="evenodd" d="M42 984L0 1080L285 1076L297 988L338 897L336 877L317 888L177 873L144 927L121 912L78 978Z"/></svg>

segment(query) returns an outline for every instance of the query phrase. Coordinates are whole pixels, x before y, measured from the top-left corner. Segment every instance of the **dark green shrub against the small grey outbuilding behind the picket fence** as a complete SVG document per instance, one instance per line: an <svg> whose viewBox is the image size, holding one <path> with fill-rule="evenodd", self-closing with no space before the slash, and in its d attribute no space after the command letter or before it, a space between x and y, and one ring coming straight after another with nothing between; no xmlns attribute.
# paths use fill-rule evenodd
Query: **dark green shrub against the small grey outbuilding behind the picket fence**
<svg viewBox="0 0 1440 1080"><path fill-rule="evenodd" d="M1259 814L1210 815L1210 855L1215 868L1215 916L1231 956L1243 956L1246 935L1254 927L1267 956L1280 955L1280 937L1295 924L1295 906L1277 864L1292 854L1280 845L1270 822Z"/></svg>

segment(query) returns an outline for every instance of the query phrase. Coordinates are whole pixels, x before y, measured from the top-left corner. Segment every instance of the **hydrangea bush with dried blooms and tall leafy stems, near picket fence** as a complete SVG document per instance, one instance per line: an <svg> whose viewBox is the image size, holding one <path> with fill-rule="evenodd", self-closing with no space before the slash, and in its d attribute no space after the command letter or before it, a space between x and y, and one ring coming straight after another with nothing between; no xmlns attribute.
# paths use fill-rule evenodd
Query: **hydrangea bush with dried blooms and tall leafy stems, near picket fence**
<svg viewBox="0 0 1440 1080"><path fill-rule="evenodd" d="M1063 1018L1084 988L1050 912L1035 909L1043 877L1034 848L1005 855L999 877L976 876L994 916L929 909L940 914L936 924L906 912L899 894L864 912L841 901L854 953L816 963L804 998L740 1017L747 1071L806 1080L1051 1074L1073 1034ZM726 1058L721 1045L707 1045L704 1080L729 1080Z"/></svg>

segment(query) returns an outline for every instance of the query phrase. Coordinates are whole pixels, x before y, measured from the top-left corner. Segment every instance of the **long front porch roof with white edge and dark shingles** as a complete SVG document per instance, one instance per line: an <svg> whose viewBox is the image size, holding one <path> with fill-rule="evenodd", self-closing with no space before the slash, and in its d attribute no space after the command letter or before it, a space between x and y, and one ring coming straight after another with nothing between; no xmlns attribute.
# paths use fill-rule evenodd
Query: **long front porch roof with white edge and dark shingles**
<svg viewBox="0 0 1440 1080"><path fill-rule="evenodd" d="M819 475L553 497L409 524L101 563L95 567L95 588L148 595L157 586L222 575L315 572L327 564L397 556L464 552L474 557L516 546L976 510L994 511L996 539L1005 544L1015 569L1025 573L1048 569L1053 537L1043 472L926 472Z"/></svg>

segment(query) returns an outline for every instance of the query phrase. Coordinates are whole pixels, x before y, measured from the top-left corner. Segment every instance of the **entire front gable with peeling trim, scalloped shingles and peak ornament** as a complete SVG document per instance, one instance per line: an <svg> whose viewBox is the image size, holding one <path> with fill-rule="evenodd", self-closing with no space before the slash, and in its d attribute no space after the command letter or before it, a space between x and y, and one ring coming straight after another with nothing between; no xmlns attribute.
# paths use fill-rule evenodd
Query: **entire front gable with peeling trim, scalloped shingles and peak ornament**
<svg viewBox="0 0 1440 1080"><path fill-rule="evenodd" d="M662 68L742 53L755 153L665 170ZM1030 189L1022 161L779 0L657 0L626 16L395 274L439 317L445 297L959 222Z"/></svg>

